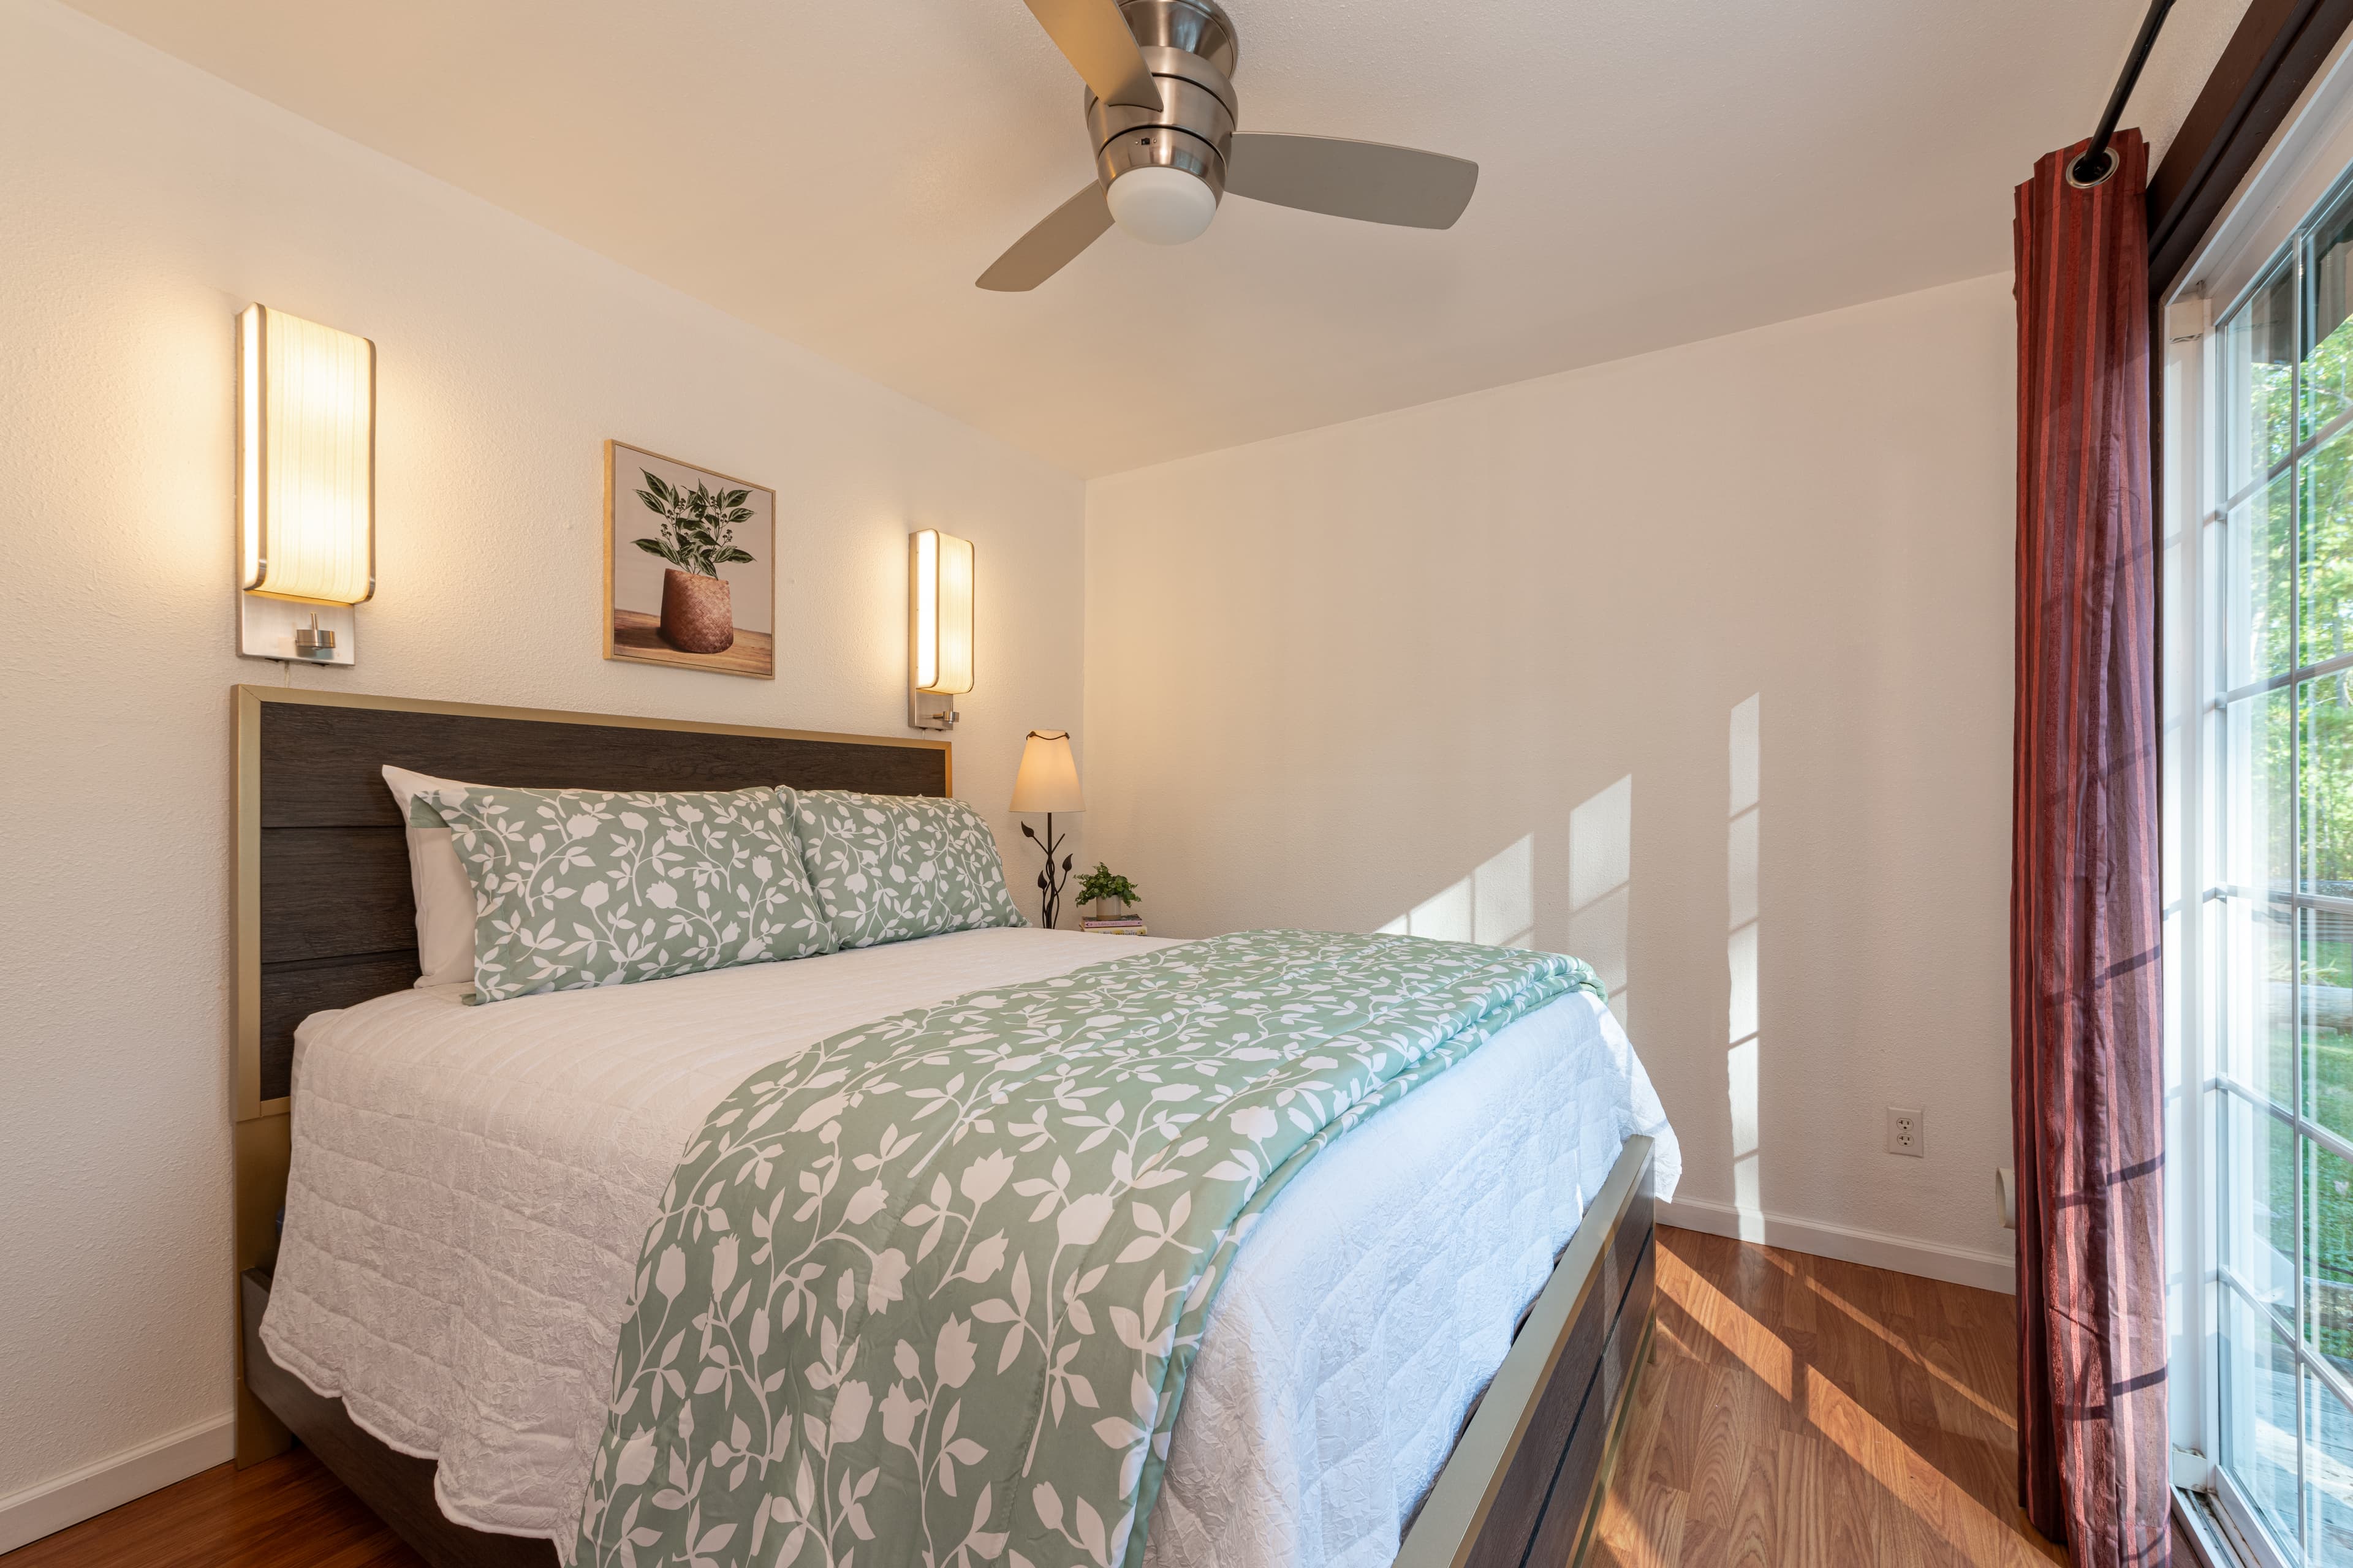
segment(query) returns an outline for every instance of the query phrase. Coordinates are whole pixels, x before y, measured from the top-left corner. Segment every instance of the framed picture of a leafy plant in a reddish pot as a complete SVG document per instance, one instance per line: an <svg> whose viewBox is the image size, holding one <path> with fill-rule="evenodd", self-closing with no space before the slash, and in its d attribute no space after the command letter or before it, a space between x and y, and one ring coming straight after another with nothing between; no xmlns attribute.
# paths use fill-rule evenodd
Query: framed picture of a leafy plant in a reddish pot
<svg viewBox="0 0 2353 1568"><path fill-rule="evenodd" d="M776 677L776 491L605 442L605 658Z"/></svg>

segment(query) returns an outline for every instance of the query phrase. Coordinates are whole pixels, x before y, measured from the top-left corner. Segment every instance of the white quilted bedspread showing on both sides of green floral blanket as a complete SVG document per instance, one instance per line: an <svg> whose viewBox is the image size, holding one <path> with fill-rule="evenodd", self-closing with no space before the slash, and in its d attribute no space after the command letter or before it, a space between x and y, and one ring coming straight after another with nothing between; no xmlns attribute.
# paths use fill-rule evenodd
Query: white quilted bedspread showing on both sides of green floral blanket
<svg viewBox="0 0 2353 1568"><path fill-rule="evenodd" d="M1113 947L1113 943L1120 943ZM482 1530L569 1549L638 1246L704 1117L758 1067L1151 938L965 931L296 1034L261 1340ZM1334 1140L1235 1255L1176 1422L1148 1568L1388 1563L1511 1331L1631 1133L1680 1154L1586 994Z"/></svg>

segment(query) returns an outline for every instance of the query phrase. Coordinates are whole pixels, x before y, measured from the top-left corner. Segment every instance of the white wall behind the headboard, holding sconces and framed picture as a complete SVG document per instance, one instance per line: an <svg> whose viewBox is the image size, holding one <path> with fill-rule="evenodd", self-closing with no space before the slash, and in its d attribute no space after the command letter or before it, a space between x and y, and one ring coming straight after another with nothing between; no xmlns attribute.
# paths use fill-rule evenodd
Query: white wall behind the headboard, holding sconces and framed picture
<svg viewBox="0 0 2353 1568"><path fill-rule="evenodd" d="M358 668L294 679L906 733L939 524L988 588L955 783L1009 853L1021 733L1080 724L1085 496L49 0L0 0L0 148L7 1514L155 1439L226 1455L228 686L282 679L233 639L240 306L379 346L381 588ZM774 682L600 661L602 437L776 487Z"/></svg>

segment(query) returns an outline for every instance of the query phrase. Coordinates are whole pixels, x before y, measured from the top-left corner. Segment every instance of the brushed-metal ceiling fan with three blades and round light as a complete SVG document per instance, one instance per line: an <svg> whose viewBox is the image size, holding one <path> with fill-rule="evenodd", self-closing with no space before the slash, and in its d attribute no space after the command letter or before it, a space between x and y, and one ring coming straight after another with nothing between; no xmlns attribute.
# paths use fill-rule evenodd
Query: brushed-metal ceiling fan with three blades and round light
<svg viewBox="0 0 2353 1568"><path fill-rule="evenodd" d="M1452 228L1478 165L1339 136L1235 132L1238 40L1217 0L1026 0L1087 80L1094 181L1014 240L979 287L1035 289L1118 223L1153 244L1200 237L1226 195L1365 223Z"/></svg>

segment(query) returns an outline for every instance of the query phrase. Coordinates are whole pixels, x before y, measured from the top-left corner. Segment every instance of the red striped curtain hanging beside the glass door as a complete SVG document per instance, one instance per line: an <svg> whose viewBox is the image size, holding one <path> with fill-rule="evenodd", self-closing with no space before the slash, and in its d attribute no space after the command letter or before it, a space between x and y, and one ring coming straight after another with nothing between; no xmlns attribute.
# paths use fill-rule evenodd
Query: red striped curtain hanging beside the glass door
<svg viewBox="0 0 2353 1568"><path fill-rule="evenodd" d="M2019 1493L2075 1568L2167 1561L2148 148L2019 186L2009 1103Z"/></svg>

